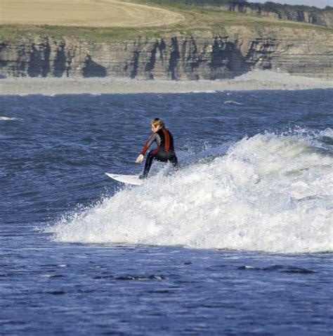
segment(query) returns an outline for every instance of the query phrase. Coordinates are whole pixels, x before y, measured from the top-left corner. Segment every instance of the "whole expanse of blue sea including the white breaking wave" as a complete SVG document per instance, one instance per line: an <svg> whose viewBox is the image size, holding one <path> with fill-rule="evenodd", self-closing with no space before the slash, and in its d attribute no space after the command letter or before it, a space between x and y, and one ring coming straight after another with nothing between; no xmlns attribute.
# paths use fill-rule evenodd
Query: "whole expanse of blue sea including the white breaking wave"
<svg viewBox="0 0 333 336"><path fill-rule="evenodd" d="M0 96L0 335L332 335L333 90ZM182 169L134 164L161 117Z"/></svg>

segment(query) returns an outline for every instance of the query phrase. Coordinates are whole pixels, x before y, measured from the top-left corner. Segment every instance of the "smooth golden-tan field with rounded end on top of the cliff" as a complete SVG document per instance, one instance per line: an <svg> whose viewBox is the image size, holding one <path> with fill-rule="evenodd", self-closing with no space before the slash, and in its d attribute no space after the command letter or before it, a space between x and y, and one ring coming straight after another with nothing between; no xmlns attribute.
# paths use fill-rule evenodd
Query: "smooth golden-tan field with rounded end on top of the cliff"
<svg viewBox="0 0 333 336"><path fill-rule="evenodd" d="M81 27L172 25L183 16L117 0L1 0L0 23Z"/></svg>

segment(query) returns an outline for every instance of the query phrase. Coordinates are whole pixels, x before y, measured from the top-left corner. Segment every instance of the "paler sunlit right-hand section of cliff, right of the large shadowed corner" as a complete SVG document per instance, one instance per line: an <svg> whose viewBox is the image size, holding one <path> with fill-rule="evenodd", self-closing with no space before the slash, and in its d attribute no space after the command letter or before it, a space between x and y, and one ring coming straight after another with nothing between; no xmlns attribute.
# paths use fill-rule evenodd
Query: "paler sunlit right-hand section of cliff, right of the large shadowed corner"
<svg viewBox="0 0 333 336"><path fill-rule="evenodd" d="M261 32L231 27L230 38L251 69L333 79L333 32L266 27Z"/></svg>

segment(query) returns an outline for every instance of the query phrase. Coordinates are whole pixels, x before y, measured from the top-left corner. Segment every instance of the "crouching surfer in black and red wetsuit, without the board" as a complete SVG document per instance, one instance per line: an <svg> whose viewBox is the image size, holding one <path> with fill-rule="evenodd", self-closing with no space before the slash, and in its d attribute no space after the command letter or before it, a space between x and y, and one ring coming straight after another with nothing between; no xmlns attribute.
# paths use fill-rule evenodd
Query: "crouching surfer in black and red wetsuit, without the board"
<svg viewBox="0 0 333 336"><path fill-rule="evenodd" d="M165 128L164 122L159 118L152 119L150 127L152 129L152 135L148 138L145 146L143 146L141 154L136 158L136 163L141 163L143 161L145 152L147 152L153 142L157 143L157 148L150 150L148 153L147 160L145 160L145 169L143 169L143 174L139 176L140 179L147 178L150 167L152 167L152 160L171 162L175 170L179 169L178 160L174 150L174 137Z"/></svg>

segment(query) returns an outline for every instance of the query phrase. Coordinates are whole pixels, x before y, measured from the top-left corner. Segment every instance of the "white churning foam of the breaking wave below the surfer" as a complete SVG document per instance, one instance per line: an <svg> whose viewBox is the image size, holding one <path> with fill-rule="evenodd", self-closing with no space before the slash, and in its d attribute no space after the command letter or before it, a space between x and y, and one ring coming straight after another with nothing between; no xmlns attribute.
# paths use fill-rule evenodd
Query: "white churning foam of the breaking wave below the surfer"
<svg viewBox="0 0 333 336"><path fill-rule="evenodd" d="M333 157L316 137L258 134L51 227L59 242L333 251ZM328 145L327 145L328 146Z"/></svg>

